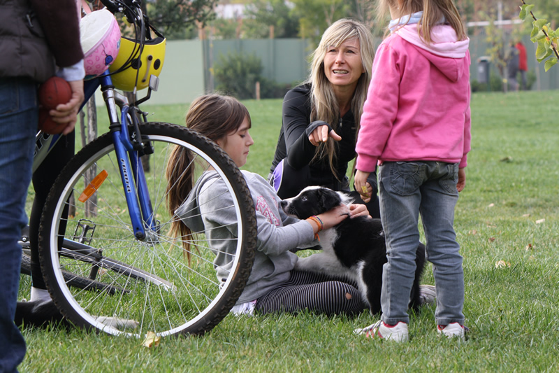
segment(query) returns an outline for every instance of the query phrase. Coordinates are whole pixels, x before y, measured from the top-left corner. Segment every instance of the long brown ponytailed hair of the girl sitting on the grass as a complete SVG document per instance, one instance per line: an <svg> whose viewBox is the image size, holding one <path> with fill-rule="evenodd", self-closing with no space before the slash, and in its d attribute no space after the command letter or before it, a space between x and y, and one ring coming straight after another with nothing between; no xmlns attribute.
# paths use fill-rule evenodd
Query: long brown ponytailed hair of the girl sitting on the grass
<svg viewBox="0 0 559 373"><path fill-rule="evenodd" d="M228 134L236 132L244 120L249 122L247 108L237 99L220 94L205 94L192 101L187 112L187 127L213 141L226 139ZM171 153L166 169L167 206L170 216L187 199L194 186L194 164L189 150L177 146ZM190 244L187 239L192 233L181 220L173 218L171 234L182 239L182 247L190 262Z"/></svg>

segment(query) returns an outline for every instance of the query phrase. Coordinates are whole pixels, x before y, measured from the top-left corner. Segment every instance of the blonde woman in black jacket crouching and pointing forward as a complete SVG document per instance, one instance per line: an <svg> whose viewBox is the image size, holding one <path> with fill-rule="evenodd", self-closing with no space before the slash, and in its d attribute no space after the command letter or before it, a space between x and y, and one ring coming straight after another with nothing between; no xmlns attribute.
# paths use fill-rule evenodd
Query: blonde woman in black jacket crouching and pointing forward
<svg viewBox="0 0 559 373"><path fill-rule="evenodd" d="M350 192L347 169L356 156L374 53L370 31L361 22L342 19L324 31L309 78L284 97L282 129L268 176L282 199L309 185ZM367 189L369 213L379 218L376 174ZM361 202L358 193L350 194Z"/></svg>

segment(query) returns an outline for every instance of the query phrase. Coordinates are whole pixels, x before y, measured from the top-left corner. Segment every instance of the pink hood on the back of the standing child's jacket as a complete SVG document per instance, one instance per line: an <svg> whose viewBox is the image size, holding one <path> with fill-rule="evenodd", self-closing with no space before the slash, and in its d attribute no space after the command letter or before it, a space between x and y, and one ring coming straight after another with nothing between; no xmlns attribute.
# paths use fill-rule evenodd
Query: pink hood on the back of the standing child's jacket
<svg viewBox="0 0 559 373"><path fill-rule="evenodd" d="M394 31L426 57L437 69L444 73L447 78L457 81L462 76L465 57L470 45L470 39L458 40L456 31L447 25L440 24L433 27L431 31L432 43L427 44L417 32L417 24L407 24ZM466 66L467 67L467 66Z"/></svg>

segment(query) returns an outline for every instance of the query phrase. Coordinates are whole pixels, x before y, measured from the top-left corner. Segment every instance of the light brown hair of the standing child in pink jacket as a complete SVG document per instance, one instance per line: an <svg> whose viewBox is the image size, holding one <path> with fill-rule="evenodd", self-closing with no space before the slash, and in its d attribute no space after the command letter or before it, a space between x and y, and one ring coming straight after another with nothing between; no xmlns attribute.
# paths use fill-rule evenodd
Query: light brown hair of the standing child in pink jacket
<svg viewBox="0 0 559 373"><path fill-rule="evenodd" d="M377 6L377 19L379 21L390 14L391 6L398 8L398 0L379 0ZM430 44L432 42L431 29L442 20L442 17L456 31L459 41L467 38L466 29L453 0L403 0L402 6L396 10L396 13L398 13L396 17L421 12L421 10L423 10L423 17L417 24L417 31L426 43Z"/></svg>

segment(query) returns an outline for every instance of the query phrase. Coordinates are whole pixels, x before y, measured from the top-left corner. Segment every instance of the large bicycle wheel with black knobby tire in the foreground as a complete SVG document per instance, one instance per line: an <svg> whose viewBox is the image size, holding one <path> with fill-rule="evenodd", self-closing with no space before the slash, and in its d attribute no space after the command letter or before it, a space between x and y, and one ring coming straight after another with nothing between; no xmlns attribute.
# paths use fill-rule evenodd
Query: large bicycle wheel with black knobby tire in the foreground
<svg viewBox="0 0 559 373"><path fill-rule="evenodd" d="M122 193L117 161L110 134L104 134L82 148L61 171L48 196L39 230L41 267L49 293L64 316L74 325L107 332L112 335L145 337L156 335L203 335L212 330L229 313L242 293L252 269L256 246L256 213L249 189L231 158L215 143L186 127L149 122L140 125L144 141L154 146L150 155L150 196L154 213L161 220L152 239L138 241L134 237ZM166 178L164 169L174 146L183 146L196 155L196 174L208 164L216 169L227 185L238 216L236 252L231 261L231 272L226 281L218 281L212 259L215 254L203 232L191 239L197 250L192 252L195 263L184 259L180 240L170 237L168 226L176 216L166 212ZM85 291L73 288L64 279L64 270L78 276L85 274L91 263L83 264L59 255L60 239L72 239L73 225L78 217L69 216L60 224L62 211L69 197L79 195L92 176L90 167L108 170L108 177L96 190L96 233L90 246L110 258L126 262L131 267L152 273L172 283L172 288L156 286L151 281L138 281L121 272L103 270L96 281L126 290L127 293L108 295L105 291ZM206 167L206 168L204 168ZM82 182L84 182L82 184ZM77 215L85 213L80 202L75 202ZM64 228L64 225L66 226ZM59 230L64 229L64 232ZM87 267L85 267L87 265ZM99 321L112 318L112 322ZM116 323L114 320L117 320ZM129 321L132 321L129 323ZM134 324L136 323L136 324ZM121 325L122 324L122 325Z"/></svg>

